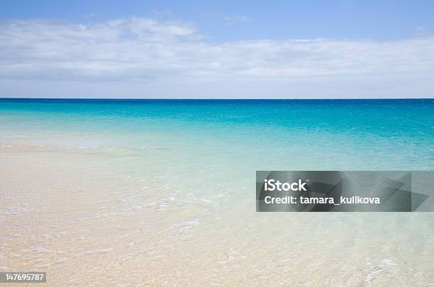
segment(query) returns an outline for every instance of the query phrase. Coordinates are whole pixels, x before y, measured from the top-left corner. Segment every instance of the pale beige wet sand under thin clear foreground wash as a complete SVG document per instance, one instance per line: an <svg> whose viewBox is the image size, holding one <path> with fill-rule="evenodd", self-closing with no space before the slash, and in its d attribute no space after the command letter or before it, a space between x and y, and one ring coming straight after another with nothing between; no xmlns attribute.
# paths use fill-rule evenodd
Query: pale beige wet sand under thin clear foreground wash
<svg viewBox="0 0 434 287"><path fill-rule="evenodd" d="M1 271L46 271L48 286L434 286L431 213L255 213L254 189L188 191L110 159L1 143Z"/></svg>

